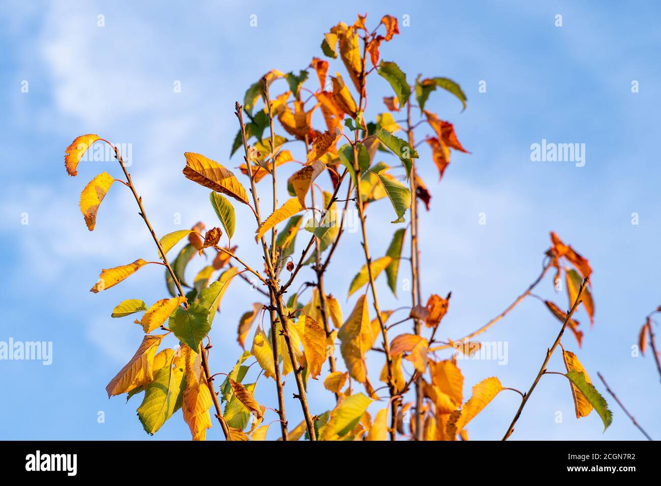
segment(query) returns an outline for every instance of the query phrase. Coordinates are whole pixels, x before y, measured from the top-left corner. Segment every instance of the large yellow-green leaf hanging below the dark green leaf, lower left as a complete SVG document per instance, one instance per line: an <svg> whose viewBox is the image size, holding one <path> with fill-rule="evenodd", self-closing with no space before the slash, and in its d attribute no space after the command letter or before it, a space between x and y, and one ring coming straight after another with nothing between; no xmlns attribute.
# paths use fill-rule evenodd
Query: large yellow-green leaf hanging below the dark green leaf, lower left
<svg viewBox="0 0 661 486"><path fill-rule="evenodd" d="M178 366L173 368L174 359L173 354L169 363L156 373L137 408L137 417L147 434L154 434L175 413L180 395L183 395L184 368L180 366L183 360L179 360Z"/></svg>

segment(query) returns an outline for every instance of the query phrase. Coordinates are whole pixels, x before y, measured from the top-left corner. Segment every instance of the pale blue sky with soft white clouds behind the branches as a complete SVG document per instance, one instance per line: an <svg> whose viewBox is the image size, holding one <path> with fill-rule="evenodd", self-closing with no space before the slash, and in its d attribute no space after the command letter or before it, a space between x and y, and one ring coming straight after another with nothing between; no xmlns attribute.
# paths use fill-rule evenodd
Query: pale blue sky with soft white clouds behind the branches
<svg viewBox="0 0 661 486"><path fill-rule="evenodd" d="M89 288L101 268L155 255L153 241L137 216L126 188L116 184L100 208L97 229L87 231L78 209L83 186L101 171L119 175L111 163L87 163L79 177L63 168L65 147L79 134L97 133L132 143L132 177L145 210L160 235L216 218L208 190L184 179L184 151L197 151L227 165L237 130L233 104L266 71L297 71L322 56L323 32L338 20L353 22L368 12L373 25L389 13L410 26L381 49L412 81L419 72L447 76L461 84L468 108L433 93L429 108L455 124L471 155L453 153L444 180L438 179L426 149L420 173L432 192L432 210L422 212L422 292L452 292L440 337L459 337L496 316L532 282L549 247L549 231L590 259L596 302L593 329L578 313L585 337L576 352L598 383L602 372L629 411L654 438L661 426L654 413L661 399L651 356L633 358L644 316L661 304L656 258L661 216L661 169L656 118L661 101L658 4L624 9L615 2L206 2L169 6L162 2L7 2L0 13L0 120L3 190L0 192L4 319L0 341L52 341L53 363L0 361L0 438L136 439L188 438L180 414L155 437L143 432L135 409L122 397L108 401L107 382L124 366L142 331L127 319L111 319L127 298L147 303L166 296L163 272L147 266L100 294ZM105 26L97 26L104 15ZM555 26L555 16L563 26ZM250 16L257 15L257 26ZM344 72L344 67L332 69ZM28 81L28 93L22 93ZM180 81L181 93L173 92ZM486 93L479 93L486 81ZM639 93L631 92L638 81ZM311 79L311 83L315 83ZM284 87L280 85L284 90ZM368 118L384 110L389 86L370 77ZM420 133L418 140L422 140ZM585 143L586 164L533 162L530 145L542 139ZM426 157L425 157L426 155ZM103 167L98 167L102 165ZM97 166L97 167L95 167ZM292 168L293 169L293 168ZM290 169L283 169L289 174ZM283 176L284 177L284 176ZM323 178L326 183L326 179ZM281 184L280 200L285 200ZM270 205L264 190L262 204ZM373 255L383 255L391 234L391 208L369 208ZM486 225L478 215L486 213ZM173 223L181 215L182 225ZM631 223L632 214L639 224ZM28 224L22 224L24 214ZM237 235L245 259L258 265L254 219L237 208ZM300 244L300 242L299 242ZM329 268L327 288L337 296L362 264L358 233L343 237ZM192 267L201 267L198 260ZM151 268L153 267L153 268ZM404 275L405 266L402 267ZM187 274L192 278L194 268ZM311 279L307 270L301 279ZM389 295L383 308L408 304ZM554 295L551 278L537 294L566 307ZM239 316L258 300L243 282L227 292L211 332L211 367L227 372L241 354L236 343ZM356 296L341 299L348 315ZM508 365L461 362L464 394L488 376L505 386L527 389L553 343L558 323L535 299L525 300L481 336L508 343ZM660 333L661 334L661 333ZM380 356L369 362L376 382ZM256 367L255 367L256 368ZM549 370L563 370L560 355ZM293 380L286 395L295 391ZM274 405L272 380L260 379L256 398ZM614 401L613 425L602 434L596 413L574 418L569 385L545 376L518 422L515 439L641 439ZM332 395L311 383L314 413L332 407ZM472 439L499 439L519 398L503 392L468 427ZM375 411L376 405L371 410ZM290 424L301 419L292 400ZM105 422L98 423L103 411ZM563 414L556 422L557 412ZM271 419L275 415L272 414ZM267 415L268 420L268 415ZM277 436L272 426L270 437ZM208 432L220 436L217 425Z"/></svg>

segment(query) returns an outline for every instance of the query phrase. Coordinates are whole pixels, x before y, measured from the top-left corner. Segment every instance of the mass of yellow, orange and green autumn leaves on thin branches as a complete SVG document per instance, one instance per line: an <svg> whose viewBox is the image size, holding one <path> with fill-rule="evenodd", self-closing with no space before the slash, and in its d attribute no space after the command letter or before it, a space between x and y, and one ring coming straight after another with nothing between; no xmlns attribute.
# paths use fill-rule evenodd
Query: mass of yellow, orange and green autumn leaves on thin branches
<svg viewBox="0 0 661 486"><path fill-rule="evenodd" d="M327 58L340 58L350 83L345 83L339 72L329 75L329 61L313 58L310 65L298 73L272 69L249 87L243 107L237 104L241 124L231 155L243 147L245 156L239 171L248 178L249 191L229 169L216 161L198 153L184 154L184 176L212 190L210 203L221 227L213 227L204 233L204 224L198 223L190 230L173 231L156 239L144 215L141 199L116 151L127 177L127 181L120 182L129 186L136 196L141 216L157 242L159 261L138 259L134 263L102 270L92 292L111 288L145 264L166 267L169 297L151 306L139 299L124 300L112 312L112 317L143 313L141 319L135 321L145 332L143 342L106 390L109 396L126 393L127 399L143 393L137 415L150 434L182 409L192 438L204 439L206 429L212 426L210 409L215 405L215 415L227 439L264 440L268 424L262 425L262 421L268 409L254 399L258 380L246 383L251 366L246 362L251 358L261 368L260 375L263 373L267 380L274 380L279 391L282 378L292 373L302 384L298 396L305 419L290 430L283 427L283 438L288 440L297 440L304 434L317 440L387 440L389 436L396 438L398 433L422 440L456 440L457 437L467 440L466 426L500 391L506 389L498 378L486 378L473 386L472 397L464 401L464 378L455 353L471 355L479 350L480 344L470 339L438 340L437 331L448 311L450 294L445 298L432 294L426 305L407 307L408 317L403 321L415 321L420 326L414 327L413 333L401 333L392 339L387 337L387 330L392 325L386 324L397 311L379 309L374 281L385 274L389 288L397 296L399 262L403 258L405 238L410 233L409 228L412 230L417 225L414 206L419 201L427 210L430 208L430 192L416 171L416 159L420 155L414 145L414 129L428 130L424 142L430 148L430 158L438 169L440 181L449 165L451 150L467 151L457 139L453 124L426 110L425 106L436 89L451 93L463 108L467 99L459 85L446 77L423 78L418 75L414 83L409 83L397 63L380 59L380 49L399 34L397 19L386 15L373 30L366 27L365 21L366 16L359 16L350 26L338 23L324 34L321 43L321 50ZM316 73L317 88L310 89L306 85L310 72ZM368 97L366 79L372 72L391 86L394 95L383 99L383 112L374 120L367 120L364 113ZM280 85L284 91L270 97L272 85ZM258 108L260 100L263 106ZM419 109L419 122L412 122L412 106ZM317 108L321 113L319 120L313 116ZM243 114L249 118L245 123ZM407 124L404 128L393 114L405 114ZM279 122L282 134L274 132L274 120ZM270 136L264 135L267 130ZM407 140L398 132L403 132ZM105 142L96 135L85 135L67 148L65 163L70 175L77 174L78 161L97 141ZM305 161L297 161L292 151L285 148L292 142L301 142L305 146ZM377 155L390 157L394 163L377 161ZM287 181L290 199L279 207L274 205L272 214L262 221L255 194L256 184L269 179L275 181L276 169L290 163L301 165ZM327 173L329 179L327 190L319 188L323 200L323 206L319 208L315 207L315 190L323 184L318 179L323 173ZM266 177L268 175L272 177ZM87 184L81 194L81 212L90 230L95 227L98 207L114 181L110 175L102 173ZM348 184L346 202L353 200L360 214L366 256L348 289L348 296L356 292L362 294L346 319L340 302L332 294L326 294L321 286L328 261L320 264L321 255L330 259L342 235L343 218L337 218L336 194L345 181ZM254 204L249 200L249 192ZM351 194L354 196L349 197ZM364 212L379 200L389 200L394 212L393 223L401 225L406 223L407 214L411 216L405 226L395 229L386 254L372 260L367 250ZM237 203L240 203L237 208L249 206L256 216L255 240L264 245L265 269L262 272L243 263L237 247L231 246L237 222L234 207ZM301 213L307 208L315 208L315 214L319 216L303 224ZM294 265L297 235L303 234L301 225L316 247L315 255L305 258L311 247L309 244L301 253L299 263ZM270 245L266 241L269 232L272 235ZM219 245L222 235L227 237L225 246ZM170 263L168 253L186 238L187 243L180 247ZM592 324L594 302L589 290L584 288L584 279L591 272L588 261L572 247L564 245L555 233L551 233L551 243L545 271L550 267L557 270L556 287L564 272L570 306L581 295L582 305ZM186 266L196 255L207 251L215 251L213 263L204 266L192 284L188 284L184 276ZM286 268L291 276L283 286L280 272L287 260L290 260ZM284 292L303 266L310 266L317 274L317 285L309 301L299 302L301 295L297 293L285 301ZM243 277L243 272L252 272L260 279L264 302L255 302L253 308L241 316L237 341L244 350L234 368L227 370L225 381L216 393L213 376L206 366L210 346L204 346L203 341L208 337L227 286L235 276ZM188 290L184 292L183 288ZM375 314L370 309L370 288ZM572 331L580 346L583 334L578 329L578 321L571 318L574 309L564 312L549 300L543 302L563 323L562 329L568 327ZM262 326L267 313L271 316L268 329ZM164 333L153 334L157 329ZM252 344L246 350L251 331ZM479 332L471 333L469 337ZM176 338L178 345L159 350L170 335ZM337 344L346 371L336 369ZM442 358L438 353L443 350L451 350L453 354ZM385 354L385 364L378 380L387 385L389 400L379 397L372 384L373 378L368 376L368 352ZM582 364L575 354L564 348L563 358L576 417L585 417L595 409L608 426L610 412ZM325 362L329 363L331 372L324 376ZM408 366L412 366L411 372L407 372ZM304 399L307 383L310 379L320 378L323 378L324 387L334 394L336 403L326 411L309 413ZM364 391L356 391L359 384ZM406 401L405 397L409 396L413 386L416 387L416 401ZM223 413L215 403L217 399L225 403ZM381 401L383 406L372 419L367 409L373 401ZM276 413L282 422L282 403L279 407ZM411 413L417 420L406 419ZM416 426L422 429L416 430Z"/></svg>

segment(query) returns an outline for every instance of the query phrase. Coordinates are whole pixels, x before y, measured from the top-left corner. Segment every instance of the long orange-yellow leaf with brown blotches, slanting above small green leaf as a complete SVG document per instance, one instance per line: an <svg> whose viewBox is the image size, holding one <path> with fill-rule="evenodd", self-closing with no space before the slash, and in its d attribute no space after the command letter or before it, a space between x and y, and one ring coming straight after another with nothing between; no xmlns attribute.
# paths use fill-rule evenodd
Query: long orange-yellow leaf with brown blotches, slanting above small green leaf
<svg viewBox="0 0 661 486"><path fill-rule="evenodd" d="M186 157L186 167L184 167L186 178L213 189L215 192L235 198L243 204L248 204L245 189L231 171L199 153L186 152L184 156Z"/></svg>

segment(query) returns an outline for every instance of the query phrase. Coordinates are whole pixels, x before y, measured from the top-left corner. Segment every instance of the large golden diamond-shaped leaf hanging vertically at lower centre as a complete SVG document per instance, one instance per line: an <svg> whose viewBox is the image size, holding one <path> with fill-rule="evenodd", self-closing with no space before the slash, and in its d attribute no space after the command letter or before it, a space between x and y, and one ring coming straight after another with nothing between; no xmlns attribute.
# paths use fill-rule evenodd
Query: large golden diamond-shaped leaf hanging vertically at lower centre
<svg viewBox="0 0 661 486"><path fill-rule="evenodd" d="M369 322L368 302L360 296L351 315L338 331L340 352L346 368L354 380L364 383L367 380L365 353L374 342Z"/></svg>

